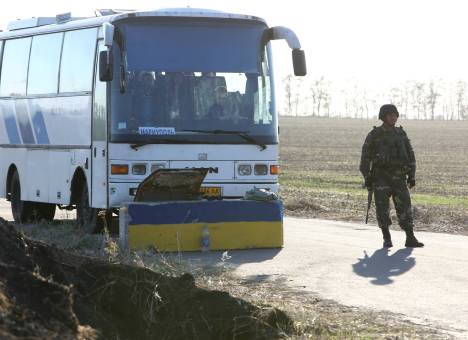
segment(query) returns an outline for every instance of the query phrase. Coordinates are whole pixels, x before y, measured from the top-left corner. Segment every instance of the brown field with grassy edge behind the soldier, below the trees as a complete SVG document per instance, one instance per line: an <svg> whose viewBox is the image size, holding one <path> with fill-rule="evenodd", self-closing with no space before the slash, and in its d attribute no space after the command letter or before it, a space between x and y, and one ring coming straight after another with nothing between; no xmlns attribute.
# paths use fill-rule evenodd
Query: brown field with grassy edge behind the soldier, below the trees
<svg viewBox="0 0 468 340"><path fill-rule="evenodd" d="M468 235L468 122L400 123L417 160L411 190L415 229ZM367 191L358 169L362 144L375 125L380 122L282 117L280 184L286 213L364 222ZM374 208L369 221L376 223Z"/></svg>

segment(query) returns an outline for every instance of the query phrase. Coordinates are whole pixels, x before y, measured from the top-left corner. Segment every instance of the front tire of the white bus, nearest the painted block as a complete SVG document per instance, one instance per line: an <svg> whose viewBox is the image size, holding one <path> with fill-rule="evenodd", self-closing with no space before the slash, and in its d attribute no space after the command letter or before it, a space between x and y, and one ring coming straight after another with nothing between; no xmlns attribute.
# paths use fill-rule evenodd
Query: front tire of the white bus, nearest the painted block
<svg viewBox="0 0 468 340"><path fill-rule="evenodd" d="M76 205L78 226L88 234L101 232L105 218L99 216L99 211L100 209L90 207L88 186L84 183Z"/></svg>

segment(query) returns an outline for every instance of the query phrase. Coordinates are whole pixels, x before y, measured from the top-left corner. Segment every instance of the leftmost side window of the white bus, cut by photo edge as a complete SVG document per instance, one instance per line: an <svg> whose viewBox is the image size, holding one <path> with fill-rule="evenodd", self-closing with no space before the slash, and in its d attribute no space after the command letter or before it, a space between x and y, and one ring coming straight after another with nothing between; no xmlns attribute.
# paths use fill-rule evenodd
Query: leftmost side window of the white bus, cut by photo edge
<svg viewBox="0 0 468 340"><path fill-rule="evenodd" d="M28 74L28 58L31 38L13 39L5 42L0 80L0 96L24 96Z"/></svg>

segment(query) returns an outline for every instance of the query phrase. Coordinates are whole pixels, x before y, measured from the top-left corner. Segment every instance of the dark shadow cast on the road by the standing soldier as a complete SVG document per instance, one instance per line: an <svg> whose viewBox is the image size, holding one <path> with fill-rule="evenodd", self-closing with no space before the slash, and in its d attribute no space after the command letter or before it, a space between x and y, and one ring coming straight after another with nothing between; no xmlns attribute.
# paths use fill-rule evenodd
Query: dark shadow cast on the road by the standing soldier
<svg viewBox="0 0 468 340"><path fill-rule="evenodd" d="M369 257L364 250L364 257L353 264L354 272L363 277L372 278L375 285L387 285L393 283L391 277L402 275L413 268L416 259L410 257L413 248L403 248L389 255L388 248L378 249Z"/></svg>

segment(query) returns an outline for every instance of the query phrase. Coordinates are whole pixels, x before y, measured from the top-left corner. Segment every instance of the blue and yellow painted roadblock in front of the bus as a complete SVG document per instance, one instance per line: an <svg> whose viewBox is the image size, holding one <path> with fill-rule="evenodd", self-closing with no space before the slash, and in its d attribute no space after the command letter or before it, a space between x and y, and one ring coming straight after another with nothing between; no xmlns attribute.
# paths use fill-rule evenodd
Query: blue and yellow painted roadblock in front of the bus
<svg viewBox="0 0 468 340"><path fill-rule="evenodd" d="M134 202L121 220L121 239L132 249L197 251L206 228L211 250L283 246L281 201Z"/></svg>

